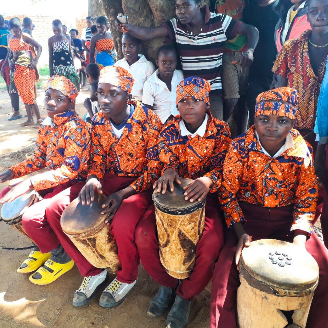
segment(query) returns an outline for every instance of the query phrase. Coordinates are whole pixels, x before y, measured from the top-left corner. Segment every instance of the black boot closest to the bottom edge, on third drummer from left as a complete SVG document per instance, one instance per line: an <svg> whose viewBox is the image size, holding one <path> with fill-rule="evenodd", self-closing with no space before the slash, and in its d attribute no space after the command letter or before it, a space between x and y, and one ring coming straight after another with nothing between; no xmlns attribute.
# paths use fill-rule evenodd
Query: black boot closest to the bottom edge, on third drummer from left
<svg viewBox="0 0 328 328"><path fill-rule="evenodd" d="M188 322L191 301L177 295L166 318L166 328L184 328Z"/></svg>

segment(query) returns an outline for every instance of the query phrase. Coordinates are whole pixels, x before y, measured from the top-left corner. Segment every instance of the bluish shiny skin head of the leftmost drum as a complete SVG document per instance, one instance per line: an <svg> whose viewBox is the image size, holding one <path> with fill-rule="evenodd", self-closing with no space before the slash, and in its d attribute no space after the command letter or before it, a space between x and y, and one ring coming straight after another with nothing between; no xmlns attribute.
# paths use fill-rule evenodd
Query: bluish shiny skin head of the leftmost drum
<svg viewBox="0 0 328 328"><path fill-rule="evenodd" d="M37 197L35 190L21 195L10 203L4 203L1 208L1 217L5 222L11 221L24 214L26 207L31 206Z"/></svg>

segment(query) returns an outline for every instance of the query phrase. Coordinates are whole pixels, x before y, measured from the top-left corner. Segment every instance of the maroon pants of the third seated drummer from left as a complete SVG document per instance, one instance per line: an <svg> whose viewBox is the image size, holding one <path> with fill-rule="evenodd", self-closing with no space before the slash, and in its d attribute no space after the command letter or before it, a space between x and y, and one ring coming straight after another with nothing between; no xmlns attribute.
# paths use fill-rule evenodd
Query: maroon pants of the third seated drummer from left
<svg viewBox="0 0 328 328"><path fill-rule="evenodd" d="M216 198L207 197L205 228L196 247L195 267L190 277L183 279L177 289L177 294L184 299L192 300L204 290L212 278L214 263L223 247L223 219L219 214L219 206ZM175 289L178 279L165 271L159 259L154 204L136 227L135 243L142 265L149 275L158 284Z"/></svg>

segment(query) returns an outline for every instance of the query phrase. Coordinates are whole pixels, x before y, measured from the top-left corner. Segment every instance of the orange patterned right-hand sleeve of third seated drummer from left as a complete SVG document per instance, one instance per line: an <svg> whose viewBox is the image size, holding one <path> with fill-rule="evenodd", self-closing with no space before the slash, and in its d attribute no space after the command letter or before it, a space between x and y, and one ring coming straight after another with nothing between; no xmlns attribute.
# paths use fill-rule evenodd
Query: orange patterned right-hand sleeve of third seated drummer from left
<svg viewBox="0 0 328 328"><path fill-rule="evenodd" d="M220 135L216 137L212 156L208 161L210 164L210 171L204 175L208 176L214 182L213 187L210 189L210 193L217 192L221 187L223 162L230 143L230 128L228 124L225 124L225 126L220 129Z"/></svg>

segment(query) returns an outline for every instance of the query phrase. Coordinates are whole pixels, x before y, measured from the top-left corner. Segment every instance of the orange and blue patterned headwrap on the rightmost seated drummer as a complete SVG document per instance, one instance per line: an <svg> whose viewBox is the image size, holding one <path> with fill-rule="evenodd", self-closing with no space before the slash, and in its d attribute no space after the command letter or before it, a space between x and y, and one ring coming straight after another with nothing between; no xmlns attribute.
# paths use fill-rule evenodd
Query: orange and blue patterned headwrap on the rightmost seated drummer
<svg viewBox="0 0 328 328"><path fill-rule="evenodd" d="M294 120L297 106L297 91L289 87L281 87L262 92L257 96L255 116L278 115Z"/></svg>

